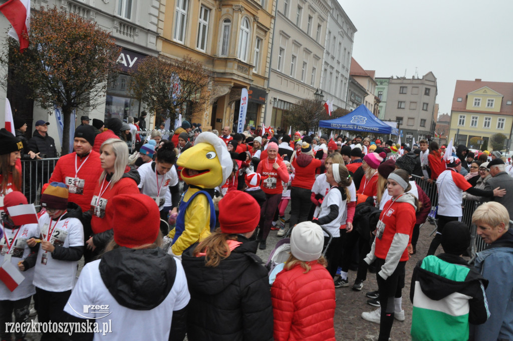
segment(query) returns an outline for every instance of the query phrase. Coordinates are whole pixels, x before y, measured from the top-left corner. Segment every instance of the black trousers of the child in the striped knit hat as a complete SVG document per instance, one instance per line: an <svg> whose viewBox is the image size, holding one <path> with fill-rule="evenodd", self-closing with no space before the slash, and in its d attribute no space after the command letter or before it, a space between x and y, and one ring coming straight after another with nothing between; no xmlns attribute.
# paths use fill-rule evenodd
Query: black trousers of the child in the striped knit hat
<svg viewBox="0 0 513 341"><path fill-rule="evenodd" d="M40 322L66 322L66 313L64 307L68 302L71 290L53 292L40 288L35 288L35 309L37 310L37 319ZM67 340L67 334L43 333L41 341Z"/></svg>

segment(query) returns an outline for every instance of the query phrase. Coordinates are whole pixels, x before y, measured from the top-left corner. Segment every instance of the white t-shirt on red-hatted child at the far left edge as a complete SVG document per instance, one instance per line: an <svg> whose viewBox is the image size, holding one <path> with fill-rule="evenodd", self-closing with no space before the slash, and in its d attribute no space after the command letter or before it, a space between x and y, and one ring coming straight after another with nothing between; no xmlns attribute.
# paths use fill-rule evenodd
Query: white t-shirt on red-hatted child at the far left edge
<svg viewBox="0 0 513 341"><path fill-rule="evenodd" d="M11 245L11 242L13 243L11 250L9 251L9 254L11 255L11 264L18 269L18 262L25 260L25 258L30 254L27 239L39 235L37 224L22 225L19 229L14 231L12 229L4 229L2 224L0 224L0 228L5 232L3 237L0 239L0 264L4 263L4 257L7 253L8 248L5 240L7 236L8 240L10 240L9 245ZM14 239L14 236L16 236L16 239L13 242L12 239ZM0 300L15 301L35 294L35 288L32 285L34 268L30 268L27 271L19 270L19 272L21 272L25 279L19 283L19 286L14 289L13 292L7 289L4 282L0 280Z"/></svg>

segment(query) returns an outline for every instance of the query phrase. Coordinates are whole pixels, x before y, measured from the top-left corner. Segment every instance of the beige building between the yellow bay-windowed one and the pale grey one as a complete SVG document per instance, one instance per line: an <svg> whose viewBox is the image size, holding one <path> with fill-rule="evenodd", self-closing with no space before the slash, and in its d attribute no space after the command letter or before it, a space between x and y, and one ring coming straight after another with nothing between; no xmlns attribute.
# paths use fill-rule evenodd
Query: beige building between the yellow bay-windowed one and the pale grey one
<svg viewBox="0 0 513 341"><path fill-rule="evenodd" d="M313 99L320 87L326 27L331 4L326 0L277 0L269 95L265 125L279 127L283 111Z"/></svg>

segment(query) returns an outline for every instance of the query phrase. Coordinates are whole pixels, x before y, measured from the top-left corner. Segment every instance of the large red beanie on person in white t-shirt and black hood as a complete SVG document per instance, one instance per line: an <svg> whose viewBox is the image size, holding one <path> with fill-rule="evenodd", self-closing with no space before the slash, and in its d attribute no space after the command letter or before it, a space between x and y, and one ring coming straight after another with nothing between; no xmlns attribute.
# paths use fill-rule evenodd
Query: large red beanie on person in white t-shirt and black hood
<svg viewBox="0 0 513 341"><path fill-rule="evenodd" d="M116 195L107 202L105 211L113 212L114 241L121 247L151 244L159 235L159 206L147 195Z"/></svg>

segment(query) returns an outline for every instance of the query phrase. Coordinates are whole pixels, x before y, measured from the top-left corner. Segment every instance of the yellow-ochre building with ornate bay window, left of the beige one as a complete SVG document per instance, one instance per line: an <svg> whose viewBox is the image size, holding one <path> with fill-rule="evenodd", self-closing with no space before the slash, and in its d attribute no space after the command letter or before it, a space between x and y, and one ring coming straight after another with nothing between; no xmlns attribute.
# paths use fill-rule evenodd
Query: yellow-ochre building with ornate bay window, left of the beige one
<svg viewBox="0 0 513 341"><path fill-rule="evenodd" d="M214 74L210 104L192 121L204 128L233 126L242 88L249 103L246 123L263 116L269 74L274 0L161 1L157 49L162 58L199 60Z"/></svg>

